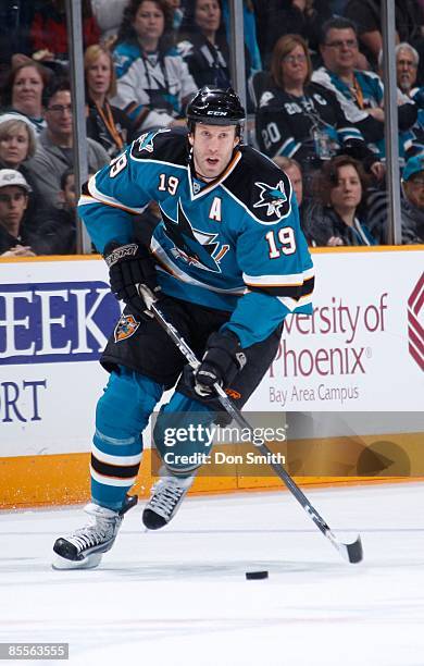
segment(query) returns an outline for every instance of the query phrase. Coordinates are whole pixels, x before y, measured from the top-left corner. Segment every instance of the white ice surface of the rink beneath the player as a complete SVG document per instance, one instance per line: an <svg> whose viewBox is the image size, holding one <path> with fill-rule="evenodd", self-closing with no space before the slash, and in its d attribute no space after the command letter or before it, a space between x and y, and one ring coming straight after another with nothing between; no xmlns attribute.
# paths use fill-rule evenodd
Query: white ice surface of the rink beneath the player
<svg viewBox="0 0 424 666"><path fill-rule="evenodd" d="M0 641L68 642L73 666L423 666L424 485L307 494L338 535L361 532L362 564L284 491L187 498L159 532L138 506L85 571L50 568L80 507L3 511Z"/></svg>

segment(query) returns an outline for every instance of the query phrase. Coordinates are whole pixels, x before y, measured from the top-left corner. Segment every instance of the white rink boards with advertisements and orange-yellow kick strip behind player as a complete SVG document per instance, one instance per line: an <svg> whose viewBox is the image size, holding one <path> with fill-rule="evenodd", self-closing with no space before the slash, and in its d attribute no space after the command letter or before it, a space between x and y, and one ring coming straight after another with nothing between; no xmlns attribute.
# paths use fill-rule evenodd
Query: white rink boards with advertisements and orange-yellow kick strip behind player
<svg viewBox="0 0 424 666"><path fill-rule="evenodd" d="M313 259L314 314L288 318L247 416L287 415L288 468L304 482L424 476L424 247L315 250ZM0 285L0 506L84 501L108 379L98 358L120 314L105 266L3 259ZM141 495L151 484L146 454ZM195 491L278 484L228 464Z"/></svg>

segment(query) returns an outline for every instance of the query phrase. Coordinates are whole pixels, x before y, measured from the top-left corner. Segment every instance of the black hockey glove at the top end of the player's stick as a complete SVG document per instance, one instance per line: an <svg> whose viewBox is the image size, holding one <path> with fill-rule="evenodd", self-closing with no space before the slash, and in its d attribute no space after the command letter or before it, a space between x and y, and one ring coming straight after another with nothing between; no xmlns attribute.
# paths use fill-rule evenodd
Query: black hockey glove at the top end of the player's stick
<svg viewBox="0 0 424 666"><path fill-rule="evenodd" d="M115 240L108 243L103 251L109 268L111 291L119 300L123 300L133 314L141 319L152 318L148 303L137 289L140 284L151 298L158 298L161 287L158 285L154 261L146 247L137 243L119 245Z"/></svg>

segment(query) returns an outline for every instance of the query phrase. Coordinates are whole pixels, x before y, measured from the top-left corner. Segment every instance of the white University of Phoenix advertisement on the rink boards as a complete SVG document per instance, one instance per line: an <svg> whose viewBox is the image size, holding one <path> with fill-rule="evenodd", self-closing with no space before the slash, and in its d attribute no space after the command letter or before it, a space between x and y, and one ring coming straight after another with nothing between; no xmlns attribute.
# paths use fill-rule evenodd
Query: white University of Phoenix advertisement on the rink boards
<svg viewBox="0 0 424 666"><path fill-rule="evenodd" d="M286 319L277 357L248 407L421 411L424 252L345 248L313 259L313 316Z"/></svg>

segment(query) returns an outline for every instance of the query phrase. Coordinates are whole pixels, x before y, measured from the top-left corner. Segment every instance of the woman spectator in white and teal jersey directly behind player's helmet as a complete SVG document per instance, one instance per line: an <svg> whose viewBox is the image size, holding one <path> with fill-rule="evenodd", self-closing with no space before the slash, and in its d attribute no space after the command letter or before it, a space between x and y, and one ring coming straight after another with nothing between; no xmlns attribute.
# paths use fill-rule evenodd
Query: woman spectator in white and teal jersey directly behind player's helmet
<svg viewBox="0 0 424 666"><path fill-rule="evenodd" d="M183 125L197 86L173 47L172 11L166 0L130 0L114 50L117 95L138 130Z"/></svg>

